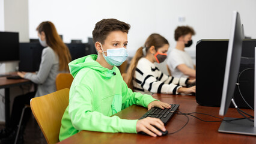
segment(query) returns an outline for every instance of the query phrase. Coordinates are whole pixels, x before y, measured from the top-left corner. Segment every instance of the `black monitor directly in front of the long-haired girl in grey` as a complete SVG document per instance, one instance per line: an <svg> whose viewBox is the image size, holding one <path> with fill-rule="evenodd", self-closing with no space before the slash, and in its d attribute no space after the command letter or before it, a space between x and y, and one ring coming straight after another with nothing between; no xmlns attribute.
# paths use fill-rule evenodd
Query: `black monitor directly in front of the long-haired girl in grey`
<svg viewBox="0 0 256 144"><path fill-rule="evenodd" d="M19 71L38 71L43 49L40 43L20 43Z"/></svg>

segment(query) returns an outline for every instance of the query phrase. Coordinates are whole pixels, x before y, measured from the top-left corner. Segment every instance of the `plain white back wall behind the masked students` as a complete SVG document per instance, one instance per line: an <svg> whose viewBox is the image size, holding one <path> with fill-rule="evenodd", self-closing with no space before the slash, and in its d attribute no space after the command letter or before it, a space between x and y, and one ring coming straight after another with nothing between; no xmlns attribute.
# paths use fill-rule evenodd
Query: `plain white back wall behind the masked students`
<svg viewBox="0 0 256 144"><path fill-rule="evenodd" d="M240 13L245 34L256 38L255 0L29 0L29 37L37 38L35 28L44 21L52 21L64 42L71 39L92 37L96 22L115 18L129 23L129 54L133 56L138 47L153 32L157 32L175 46L174 29L178 25L192 26L197 35L187 51L195 55L195 44L206 38L229 38L232 11ZM184 22L178 22L184 17Z"/></svg>

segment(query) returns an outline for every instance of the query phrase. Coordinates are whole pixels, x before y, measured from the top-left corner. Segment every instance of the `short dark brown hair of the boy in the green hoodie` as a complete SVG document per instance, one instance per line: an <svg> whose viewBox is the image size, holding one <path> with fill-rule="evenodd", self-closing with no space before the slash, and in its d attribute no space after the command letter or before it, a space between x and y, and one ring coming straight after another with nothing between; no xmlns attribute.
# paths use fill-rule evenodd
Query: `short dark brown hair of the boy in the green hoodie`
<svg viewBox="0 0 256 144"><path fill-rule="evenodd" d="M122 31L128 34L130 25L117 19L102 19L97 22L93 30L93 43L97 41L104 44L106 37L112 31Z"/></svg>

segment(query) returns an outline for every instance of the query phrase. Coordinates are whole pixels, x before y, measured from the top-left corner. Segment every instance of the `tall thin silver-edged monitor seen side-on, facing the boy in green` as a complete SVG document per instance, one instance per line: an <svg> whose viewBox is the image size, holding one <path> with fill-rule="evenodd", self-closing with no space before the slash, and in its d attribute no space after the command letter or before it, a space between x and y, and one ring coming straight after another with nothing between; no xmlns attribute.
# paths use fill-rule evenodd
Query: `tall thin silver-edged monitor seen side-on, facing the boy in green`
<svg viewBox="0 0 256 144"><path fill-rule="evenodd" d="M225 66L224 84L222 89L221 109L219 115L225 115L230 106L236 88L242 55L242 26L239 13L234 11L231 25L230 40Z"/></svg>

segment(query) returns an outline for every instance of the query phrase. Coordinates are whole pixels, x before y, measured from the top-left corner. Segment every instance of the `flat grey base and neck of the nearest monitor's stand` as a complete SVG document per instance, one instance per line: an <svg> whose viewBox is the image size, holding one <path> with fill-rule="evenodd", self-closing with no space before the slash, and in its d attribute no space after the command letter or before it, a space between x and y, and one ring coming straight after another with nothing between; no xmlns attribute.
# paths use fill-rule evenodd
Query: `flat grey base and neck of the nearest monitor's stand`
<svg viewBox="0 0 256 144"><path fill-rule="evenodd" d="M256 56L256 47L255 47ZM254 62L254 68L256 67L256 59ZM256 70L254 69L254 116L256 116ZM225 120L235 119L235 118L224 118ZM255 118L254 118L255 119ZM234 133L234 134L248 134L256 136L256 121L248 121L248 119L240 119L231 122L221 122L219 126L219 132L221 133Z"/></svg>

